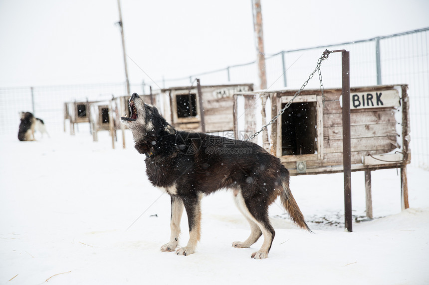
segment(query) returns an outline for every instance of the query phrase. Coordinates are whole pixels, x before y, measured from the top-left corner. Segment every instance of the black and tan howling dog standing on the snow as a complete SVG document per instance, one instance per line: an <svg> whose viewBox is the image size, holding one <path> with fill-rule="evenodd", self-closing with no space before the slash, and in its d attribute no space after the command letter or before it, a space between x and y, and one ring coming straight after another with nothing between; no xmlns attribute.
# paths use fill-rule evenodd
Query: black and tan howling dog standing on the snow
<svg viewBox="0 0 429 285"><path fill-rule="evenodd" d="M162 251L178 247L185 207L190 239L176 253L186 256L195 252L200 240L201 198L222 188L233 190L235 203L251 229L244 242L236 241L232 246L248 248L263 235L262 247L252 258L268 257L275 234L268 206L277 196L292 220L310 231L289 189L289 172L278 158L251 142L177 131L136 93L129 105L131 115L121 117L121 122L131 129L137 151L146 155L151 183L171 196L171 236Z"/></svg>

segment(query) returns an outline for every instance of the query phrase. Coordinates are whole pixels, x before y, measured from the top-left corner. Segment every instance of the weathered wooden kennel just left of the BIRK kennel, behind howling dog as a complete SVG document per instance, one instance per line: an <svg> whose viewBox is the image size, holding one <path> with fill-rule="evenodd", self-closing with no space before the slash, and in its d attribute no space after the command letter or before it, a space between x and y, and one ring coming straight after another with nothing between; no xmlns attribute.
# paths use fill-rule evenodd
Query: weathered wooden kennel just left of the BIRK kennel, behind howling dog
<svg viewBox="0 0 429 285"><path fill-rule="evenodd" d="M233 130L233 95L253 91L253 84L173 87L156 95L155 106L178 129L204 132Z"/></svg>

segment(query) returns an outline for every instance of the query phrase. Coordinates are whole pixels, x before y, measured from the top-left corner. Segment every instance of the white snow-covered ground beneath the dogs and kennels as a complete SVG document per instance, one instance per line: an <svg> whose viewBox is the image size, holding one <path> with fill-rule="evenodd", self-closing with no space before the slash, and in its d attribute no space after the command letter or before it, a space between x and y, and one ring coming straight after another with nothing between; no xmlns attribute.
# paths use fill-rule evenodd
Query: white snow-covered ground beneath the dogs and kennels
<svg viewBox="0 0 429 285"><path fill-rule="evenodd" d="M125 150L113 150L107 132L97 143L86 132L37 142L3 136L0 284L429 284L429 172L409 167L408 178L411 208L401 211L397 171L372 172L377 218L348 233L343 175L292 177L314 234L273 204L276 236L265 260L250 258L261 240L231 247L249 227L232 193L217 192L203 199L201 242L185 257L160 251L170 237L170 198L148 182L129 133ZM352 174L352 197L359 220L363 173ZM186 215L182 232L184 245Z"/></svg>

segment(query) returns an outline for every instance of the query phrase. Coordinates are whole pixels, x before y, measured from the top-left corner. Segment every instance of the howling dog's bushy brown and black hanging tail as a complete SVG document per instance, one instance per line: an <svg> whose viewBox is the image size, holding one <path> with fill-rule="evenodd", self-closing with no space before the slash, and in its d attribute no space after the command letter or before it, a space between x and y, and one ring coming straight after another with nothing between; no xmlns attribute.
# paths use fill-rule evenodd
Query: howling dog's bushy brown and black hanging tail
<svg viewBox="0 0 429 285"><path fill-rule="evenodd" d="M312 232L304 220L304 215L298 207L295 198L289 188L289 175L285 173L281 178L283 191L280 193L280 200L283 207L291 217L292 221L304 230Z"/></svg>

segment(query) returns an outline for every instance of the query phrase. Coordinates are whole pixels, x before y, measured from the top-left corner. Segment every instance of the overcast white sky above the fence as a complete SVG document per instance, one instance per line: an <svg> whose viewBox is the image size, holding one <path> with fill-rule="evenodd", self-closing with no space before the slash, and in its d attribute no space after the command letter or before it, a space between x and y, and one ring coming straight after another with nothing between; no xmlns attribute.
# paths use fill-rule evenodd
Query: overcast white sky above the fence
<svg viewBox="0 0 429 285"><path fill-rule="evenodd" d="M255 59L251 0L121 0L154 80ZM429 26L428 0L262 0L266 54ZM125 81L116 0L0 0L0 87ZM128 61L131 83L150 80Z"/></svg>

